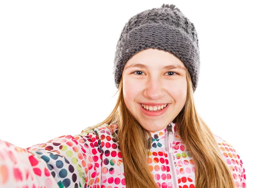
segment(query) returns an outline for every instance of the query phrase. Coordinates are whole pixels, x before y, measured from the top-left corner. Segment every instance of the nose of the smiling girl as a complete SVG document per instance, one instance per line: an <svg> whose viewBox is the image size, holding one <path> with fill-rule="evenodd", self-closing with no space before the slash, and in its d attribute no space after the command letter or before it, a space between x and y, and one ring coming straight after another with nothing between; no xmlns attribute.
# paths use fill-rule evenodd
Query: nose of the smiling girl
<svg viewBox="0 0 256 188"><path fill-rule="evenodd" d="M158 100L159 98L163 97L164 89L160 78L148 78L144 95L151 100Z"/></svg>

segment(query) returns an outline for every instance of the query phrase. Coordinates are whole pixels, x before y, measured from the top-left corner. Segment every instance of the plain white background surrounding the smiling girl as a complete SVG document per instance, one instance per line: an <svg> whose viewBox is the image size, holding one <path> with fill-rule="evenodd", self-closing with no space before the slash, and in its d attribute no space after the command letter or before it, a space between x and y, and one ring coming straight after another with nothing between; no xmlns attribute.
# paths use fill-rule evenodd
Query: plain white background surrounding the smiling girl
<svg viewBox="0 0 256 188"><path fill-rule="evenodd" d="M255 175L253 1L1 1L0 139L22 148L76 135L113 109L117 40L133 15L175 4L195 24L201 69L195 104Z"/></svg>

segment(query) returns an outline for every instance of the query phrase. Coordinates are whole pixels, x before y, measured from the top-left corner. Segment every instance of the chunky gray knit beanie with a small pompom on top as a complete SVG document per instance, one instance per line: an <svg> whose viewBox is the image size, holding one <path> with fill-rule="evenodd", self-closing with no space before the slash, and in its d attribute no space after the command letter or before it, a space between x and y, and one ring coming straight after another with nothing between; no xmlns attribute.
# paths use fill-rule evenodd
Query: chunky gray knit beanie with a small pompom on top
<svg viewBox="0 0 256 188"><path fill-rule="evenodd" d="M189 71L195 92L200 70L198 36L194 24L173 4L140 12L125 24L114 58L116 88L126 62L148 48L171 52L180 59Z"/></svg>

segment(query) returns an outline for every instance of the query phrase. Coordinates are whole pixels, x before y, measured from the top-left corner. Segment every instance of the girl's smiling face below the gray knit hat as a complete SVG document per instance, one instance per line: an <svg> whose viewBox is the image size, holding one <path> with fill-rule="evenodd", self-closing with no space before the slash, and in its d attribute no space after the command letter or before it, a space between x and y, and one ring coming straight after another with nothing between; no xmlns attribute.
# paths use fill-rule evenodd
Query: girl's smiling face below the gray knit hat
<svg viewBox="0 0 256 188"><path fill-rule="evenodd" d="M180 113L187 95L185 69L174 55L158 49L145 49L127 61L122 72L124 101L144 129L162 130ZM145 110L141 104L147 103L152 104L146 109L161 110Z"/></svg>

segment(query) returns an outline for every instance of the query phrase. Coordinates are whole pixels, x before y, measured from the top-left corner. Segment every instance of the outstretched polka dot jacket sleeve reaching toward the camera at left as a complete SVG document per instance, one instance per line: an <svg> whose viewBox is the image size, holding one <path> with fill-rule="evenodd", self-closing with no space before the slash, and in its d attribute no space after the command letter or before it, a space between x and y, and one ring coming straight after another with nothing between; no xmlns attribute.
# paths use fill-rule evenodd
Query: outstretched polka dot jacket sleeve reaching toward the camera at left
<svg viewBox="0 0 256 188"><path fill-rule="evenodd" d="M94 131L25 149L0 140L0 187L94 187L100 181L101 159Z"/></svg>

